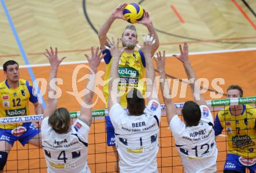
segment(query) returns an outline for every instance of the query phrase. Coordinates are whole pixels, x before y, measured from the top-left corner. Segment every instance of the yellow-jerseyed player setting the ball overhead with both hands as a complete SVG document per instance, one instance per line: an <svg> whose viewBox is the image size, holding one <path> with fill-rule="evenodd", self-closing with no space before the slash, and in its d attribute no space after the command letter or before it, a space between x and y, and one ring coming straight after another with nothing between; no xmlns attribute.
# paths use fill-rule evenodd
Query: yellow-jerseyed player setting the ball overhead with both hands
<svg viewBox="0 0 256 173"><path fill-rule="evenodd" d="M105 46L108 45L107 36L112 23L116 19L126 20L123 17L123 9L125 9L127 3L119 5L115 10L113 10L111 16L105 21L102 27L99 29L98 37L101 49L105 49ZM153 35L155 38L155 43L152 46L151 56L154 55L159 47L159 39L157 32L153 27L152 21L148 12L144 11L143 19L138 21L139 24L145 25L147 27L150 35ZM134 25L127 25L122 34L122 46L126 47L125 51L122 53L119 61L119 93L123 93L120 98L120 105L123 107L127 106L126 94L129 89L135 87L141 93L145 93L145 86L141 84L138 86L138 81L143 79L145 73L145 58L141 50L135 50L136 44L138 43L137 31ZM102 53L106 53L104 61L106 63L106 74L105 80L109 79L110 69L112 64L111 53L108 49L105 49ZM106 99L106 106L108 105L108 83L104 85L104 95ZM112 126L112 123L108 116L106 116L106 132L107 132L107 144L109 146L115 145L115 132Z"/></svg>

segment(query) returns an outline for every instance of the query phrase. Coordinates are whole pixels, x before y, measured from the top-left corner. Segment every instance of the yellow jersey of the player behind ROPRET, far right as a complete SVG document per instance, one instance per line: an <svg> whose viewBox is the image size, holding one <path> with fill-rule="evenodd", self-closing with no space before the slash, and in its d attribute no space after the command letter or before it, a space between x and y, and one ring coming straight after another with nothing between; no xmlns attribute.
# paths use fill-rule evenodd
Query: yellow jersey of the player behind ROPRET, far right
<svg viewBox="0 0 256 173"><path fill-rule="evenodd" d="M228 153L237 154L247 158L256 158L256 108L243 105L243 112L234 116L230 107L218 112L215 119L215 135L226 129Z"/></svg>

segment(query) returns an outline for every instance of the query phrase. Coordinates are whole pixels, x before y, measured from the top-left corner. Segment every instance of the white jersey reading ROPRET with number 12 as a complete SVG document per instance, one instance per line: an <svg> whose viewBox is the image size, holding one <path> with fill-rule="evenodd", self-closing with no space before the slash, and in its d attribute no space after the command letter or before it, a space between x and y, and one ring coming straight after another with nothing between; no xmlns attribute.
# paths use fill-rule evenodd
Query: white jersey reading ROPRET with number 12
<svg viewBox="0 0 256 173"><path fill-rule="evenodd" d="M185 172L215 172L218 149L215 143L214 120L209 108L200 106L198 126L187 127L178 115L170 120L170 130L182 159Z"/></svg>

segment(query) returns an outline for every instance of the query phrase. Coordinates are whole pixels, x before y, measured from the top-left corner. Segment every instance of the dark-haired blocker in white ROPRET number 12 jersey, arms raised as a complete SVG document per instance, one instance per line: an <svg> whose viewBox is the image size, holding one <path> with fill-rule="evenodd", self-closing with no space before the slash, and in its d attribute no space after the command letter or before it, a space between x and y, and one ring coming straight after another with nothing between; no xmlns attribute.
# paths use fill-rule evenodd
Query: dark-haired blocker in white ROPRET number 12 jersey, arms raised
<svg viewBox="0 0 256 173"><path fill-rule="evenodd" d="M187 78L190 80L191 93L194 101L187 101L182 108L183 122L177 115L177 109L169 97L169 89L165 74L165 52L157 53L157 67L163 82L160 83L165 102L167 122L175 138L176 148L182 159L186 173L217 172L216 159L218 150L215 145L214 120L207 103L200 91L200 83L189 61L189 46L185 42L180 45L180 55L173 55L183 63Z"/></svg>

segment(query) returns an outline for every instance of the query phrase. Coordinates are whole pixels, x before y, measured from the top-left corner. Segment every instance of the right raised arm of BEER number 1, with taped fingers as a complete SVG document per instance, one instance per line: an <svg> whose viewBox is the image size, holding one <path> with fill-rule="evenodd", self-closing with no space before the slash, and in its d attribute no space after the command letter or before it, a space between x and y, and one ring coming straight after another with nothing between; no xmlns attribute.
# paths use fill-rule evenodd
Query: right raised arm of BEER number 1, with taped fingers
<svg viewBox="0 0 256 173"><path fill-rule="evenodd" d="M155 79L155 70L154 66L151 60L151 51L154 47L154 38L152 38L150 35L146 37L146 40L143 43L143 46L140 48L143 51L143 54L145 56L145 62L146 62L146 76L150 80L151 83L147 82L147 93L150 93L148 95L148 101L150 100L157 100L159 102L158 97L154 97L154 95L158 95L157 91L154 88L154 79Z"/></svg>

